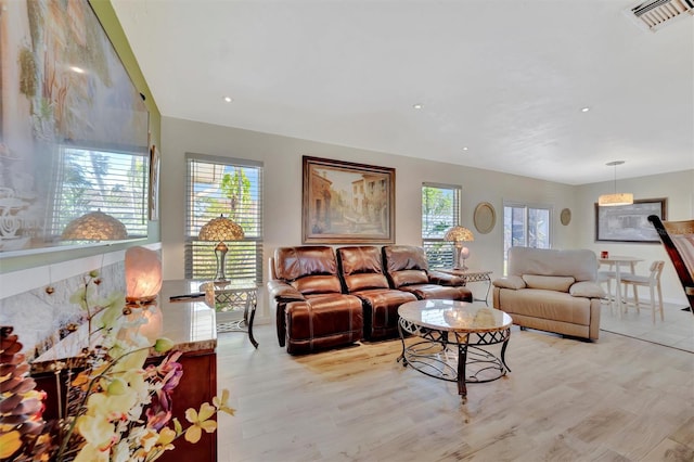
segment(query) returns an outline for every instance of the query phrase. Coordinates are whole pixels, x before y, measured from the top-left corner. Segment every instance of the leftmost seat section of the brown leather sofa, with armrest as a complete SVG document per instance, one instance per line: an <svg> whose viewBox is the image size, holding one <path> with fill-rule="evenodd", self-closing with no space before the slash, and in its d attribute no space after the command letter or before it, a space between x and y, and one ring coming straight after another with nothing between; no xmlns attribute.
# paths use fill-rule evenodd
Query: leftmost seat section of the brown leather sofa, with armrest
<svg viewBox="0 0 694 462"><path fill-rule="evenodd" d="M335 252L329 246L275 249L267 287L275 304L280 346L304 354L362 338L362 301L342 293Z"/></svg>

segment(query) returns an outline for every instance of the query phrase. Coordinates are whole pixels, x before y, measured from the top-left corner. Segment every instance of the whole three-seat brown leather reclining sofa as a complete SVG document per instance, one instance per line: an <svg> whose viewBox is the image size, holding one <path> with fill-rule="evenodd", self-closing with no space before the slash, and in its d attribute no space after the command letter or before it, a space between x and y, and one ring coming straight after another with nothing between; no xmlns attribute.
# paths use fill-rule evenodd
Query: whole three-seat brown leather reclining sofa
<svg viewBox="0 0 694 462"><path fill-rule="evenodd" d="M290 354L395 337L398 307L417 298L472 301L462 279L428 271L415 246L280 247L270 278L278 341Z"/></svg>

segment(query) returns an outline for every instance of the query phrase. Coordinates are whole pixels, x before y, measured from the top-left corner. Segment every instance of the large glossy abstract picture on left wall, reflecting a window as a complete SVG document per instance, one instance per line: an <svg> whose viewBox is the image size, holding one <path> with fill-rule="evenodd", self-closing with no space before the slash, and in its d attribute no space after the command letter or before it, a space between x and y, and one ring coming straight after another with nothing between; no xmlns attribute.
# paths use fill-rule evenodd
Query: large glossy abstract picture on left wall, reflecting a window
<svg viewBox="0 0 694 462"><path fill-rule="evenodd" d="M149 115L89 2L2 7L0 256L95 210L145 236Z"/></svg>

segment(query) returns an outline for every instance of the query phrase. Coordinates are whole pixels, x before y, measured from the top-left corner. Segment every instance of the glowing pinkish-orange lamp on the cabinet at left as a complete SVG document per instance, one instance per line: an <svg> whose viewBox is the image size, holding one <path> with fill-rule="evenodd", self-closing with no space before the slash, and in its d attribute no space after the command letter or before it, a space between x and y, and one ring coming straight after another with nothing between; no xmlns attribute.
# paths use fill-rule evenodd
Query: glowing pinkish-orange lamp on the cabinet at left
<svg viewBox="0 0 694 462"><path fill-rule="evenodd" d="M149 303L162 288L159 254L144 247L126 251L126 300Z"/></svg>

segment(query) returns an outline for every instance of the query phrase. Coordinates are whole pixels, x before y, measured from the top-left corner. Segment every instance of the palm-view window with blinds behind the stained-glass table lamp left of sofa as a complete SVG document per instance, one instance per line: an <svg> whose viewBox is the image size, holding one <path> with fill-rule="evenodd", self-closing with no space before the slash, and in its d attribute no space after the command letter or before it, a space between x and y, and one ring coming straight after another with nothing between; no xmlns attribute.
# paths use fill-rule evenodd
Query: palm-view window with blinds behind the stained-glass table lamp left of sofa
<svg viewBox="0 0 694 462"><path fill-rule="evenodd" d="M198 241L197 234L205 223L223 215L244 231L243 240L226 242L227 277L262 283L262 164L201 154L187 154L185 159L185 278L215 277L215 244Z"/></svg>

